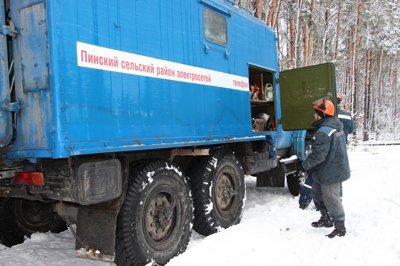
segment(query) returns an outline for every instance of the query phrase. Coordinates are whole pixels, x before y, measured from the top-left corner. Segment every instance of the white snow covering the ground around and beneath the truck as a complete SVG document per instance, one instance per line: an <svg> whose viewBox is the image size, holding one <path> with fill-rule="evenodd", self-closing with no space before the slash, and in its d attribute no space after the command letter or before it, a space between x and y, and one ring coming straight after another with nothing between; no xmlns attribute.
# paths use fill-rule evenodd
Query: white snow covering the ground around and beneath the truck
<svg viewBox="0 0 400 266"><path fill-rule="evenodd" d="M313 205L298 208L287 188L257 188L247 176L239 225L203 237L192 233L186 252L166 266L400 265L400 163L398 146L356 146L349 152L351 178L343 182L347 235L328 239L332 228L312 228ZM70 230L36 233L23 244L0 245L0 265L113 266L74 256Z"/></svg>

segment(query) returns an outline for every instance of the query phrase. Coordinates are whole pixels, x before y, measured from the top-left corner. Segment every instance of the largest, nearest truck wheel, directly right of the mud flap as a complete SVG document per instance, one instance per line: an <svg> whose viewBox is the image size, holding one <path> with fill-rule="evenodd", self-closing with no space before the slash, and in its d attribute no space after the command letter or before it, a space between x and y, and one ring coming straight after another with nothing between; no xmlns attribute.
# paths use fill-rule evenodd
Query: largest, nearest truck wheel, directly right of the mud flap
<svg viewBox="0 0 400 266"><path fill-rule="evenodd" d="M166 264L185 251L191 234L193 207L187 177L164 160L143 166L131 164L126 198L117 217L118 266Z"/></svg>

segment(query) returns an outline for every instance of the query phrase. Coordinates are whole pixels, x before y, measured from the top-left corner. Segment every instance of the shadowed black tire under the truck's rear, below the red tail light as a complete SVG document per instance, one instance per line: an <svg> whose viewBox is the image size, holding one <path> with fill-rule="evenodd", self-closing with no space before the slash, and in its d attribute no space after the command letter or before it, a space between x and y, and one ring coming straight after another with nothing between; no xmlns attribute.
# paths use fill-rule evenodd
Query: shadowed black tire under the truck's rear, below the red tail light
<svg viewBox="0 0 400 266"><path fill-rule="evenodd" d="M21 244L24 236L36 232L60 233L66 223L52 211L52 204L25 199L0 199L0 243L11 247Z"/></svg>

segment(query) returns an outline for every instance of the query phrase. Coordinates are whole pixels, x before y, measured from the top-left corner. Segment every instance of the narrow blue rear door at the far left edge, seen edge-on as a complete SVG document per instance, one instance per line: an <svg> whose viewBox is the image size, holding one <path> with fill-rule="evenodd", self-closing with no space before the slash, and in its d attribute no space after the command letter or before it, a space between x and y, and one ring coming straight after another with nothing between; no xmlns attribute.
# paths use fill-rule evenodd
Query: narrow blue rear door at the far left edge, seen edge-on
<svg viewBox="0 0 400 266"><path fill-rule="evenodd" d="M4 2L0 2L0 147L7 146L12 138L12 118L8 78L7 37Z"/></svg>

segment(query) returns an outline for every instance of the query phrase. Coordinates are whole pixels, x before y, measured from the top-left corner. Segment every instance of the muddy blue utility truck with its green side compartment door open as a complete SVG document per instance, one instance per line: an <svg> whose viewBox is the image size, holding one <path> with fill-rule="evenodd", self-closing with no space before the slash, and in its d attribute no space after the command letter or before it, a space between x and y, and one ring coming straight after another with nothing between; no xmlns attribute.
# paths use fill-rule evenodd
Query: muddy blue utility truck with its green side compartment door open
<svg viewBox="0 0 400 266"><path fill-rule="evenodd" d="M238 224L246 175L296 196L334 65L278 70L230 0L0 0L0 243L162 265ZM335 99L334 99L335 100ZM75 229L75 230L74 230Z"/></svg>

